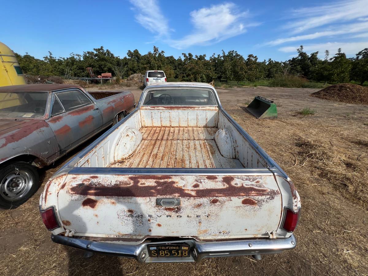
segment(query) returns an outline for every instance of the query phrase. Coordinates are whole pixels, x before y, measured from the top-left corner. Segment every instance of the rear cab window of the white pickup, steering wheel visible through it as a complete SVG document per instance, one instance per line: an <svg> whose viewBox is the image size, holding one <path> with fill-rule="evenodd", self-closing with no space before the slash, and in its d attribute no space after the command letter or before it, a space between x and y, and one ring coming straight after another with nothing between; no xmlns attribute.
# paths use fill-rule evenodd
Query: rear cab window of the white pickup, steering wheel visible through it
<svg viewBox="0 0 368 276"><path fill-rule="evenodd" d="M170 88L149 91L143 105L217 106L217 103L208 89Z"/></svg>

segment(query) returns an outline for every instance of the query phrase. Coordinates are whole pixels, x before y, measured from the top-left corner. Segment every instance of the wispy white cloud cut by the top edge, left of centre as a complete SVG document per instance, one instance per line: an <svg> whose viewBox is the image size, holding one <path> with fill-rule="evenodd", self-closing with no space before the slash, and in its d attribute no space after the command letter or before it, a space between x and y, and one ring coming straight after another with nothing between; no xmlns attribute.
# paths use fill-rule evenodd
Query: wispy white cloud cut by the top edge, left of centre
<svg viewBox="0 0 368 276"><path fill-rule="evenodd" d="M169 23L161 13L160 4L156 0L130 0L136 11L135 20L156 38L169 33Z"/></svg>

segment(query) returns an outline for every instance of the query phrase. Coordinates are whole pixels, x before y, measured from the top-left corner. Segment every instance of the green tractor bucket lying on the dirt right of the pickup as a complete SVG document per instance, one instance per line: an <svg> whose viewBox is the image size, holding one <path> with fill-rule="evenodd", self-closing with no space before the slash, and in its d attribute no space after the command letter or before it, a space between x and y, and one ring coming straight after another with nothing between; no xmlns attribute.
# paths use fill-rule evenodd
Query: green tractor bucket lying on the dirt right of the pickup
<svg viewBox="0 0 368 276"><path fill-rule="evenodd" d="M276 103L261 96L254 97L254 100L245 109L258 119L277 118Z"/></svg>

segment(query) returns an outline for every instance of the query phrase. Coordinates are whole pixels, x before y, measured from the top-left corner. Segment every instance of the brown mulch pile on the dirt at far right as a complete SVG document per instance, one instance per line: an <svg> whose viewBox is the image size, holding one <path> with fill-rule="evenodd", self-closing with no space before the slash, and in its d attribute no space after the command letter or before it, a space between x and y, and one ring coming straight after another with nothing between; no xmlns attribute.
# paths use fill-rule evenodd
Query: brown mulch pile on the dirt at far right
<svg viewBox="0 0 368 276"><path fill-rule="evenodd" d="M335 84L311 94L312 97L337 102L368 105L368 88L357 84Z"/></svg>

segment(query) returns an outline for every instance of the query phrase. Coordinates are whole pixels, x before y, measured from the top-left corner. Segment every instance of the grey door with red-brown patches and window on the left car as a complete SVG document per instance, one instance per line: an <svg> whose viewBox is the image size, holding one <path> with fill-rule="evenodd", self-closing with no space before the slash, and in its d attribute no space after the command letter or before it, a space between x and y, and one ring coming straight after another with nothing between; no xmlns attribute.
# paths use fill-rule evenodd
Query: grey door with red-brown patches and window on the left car
<svg viewBox="0 0 368 276"><path fill-rule="evenodd" d="M102 128L98 106L78 89L54 92L50 114L46 122L54 131L61 153Z"/></svg>

